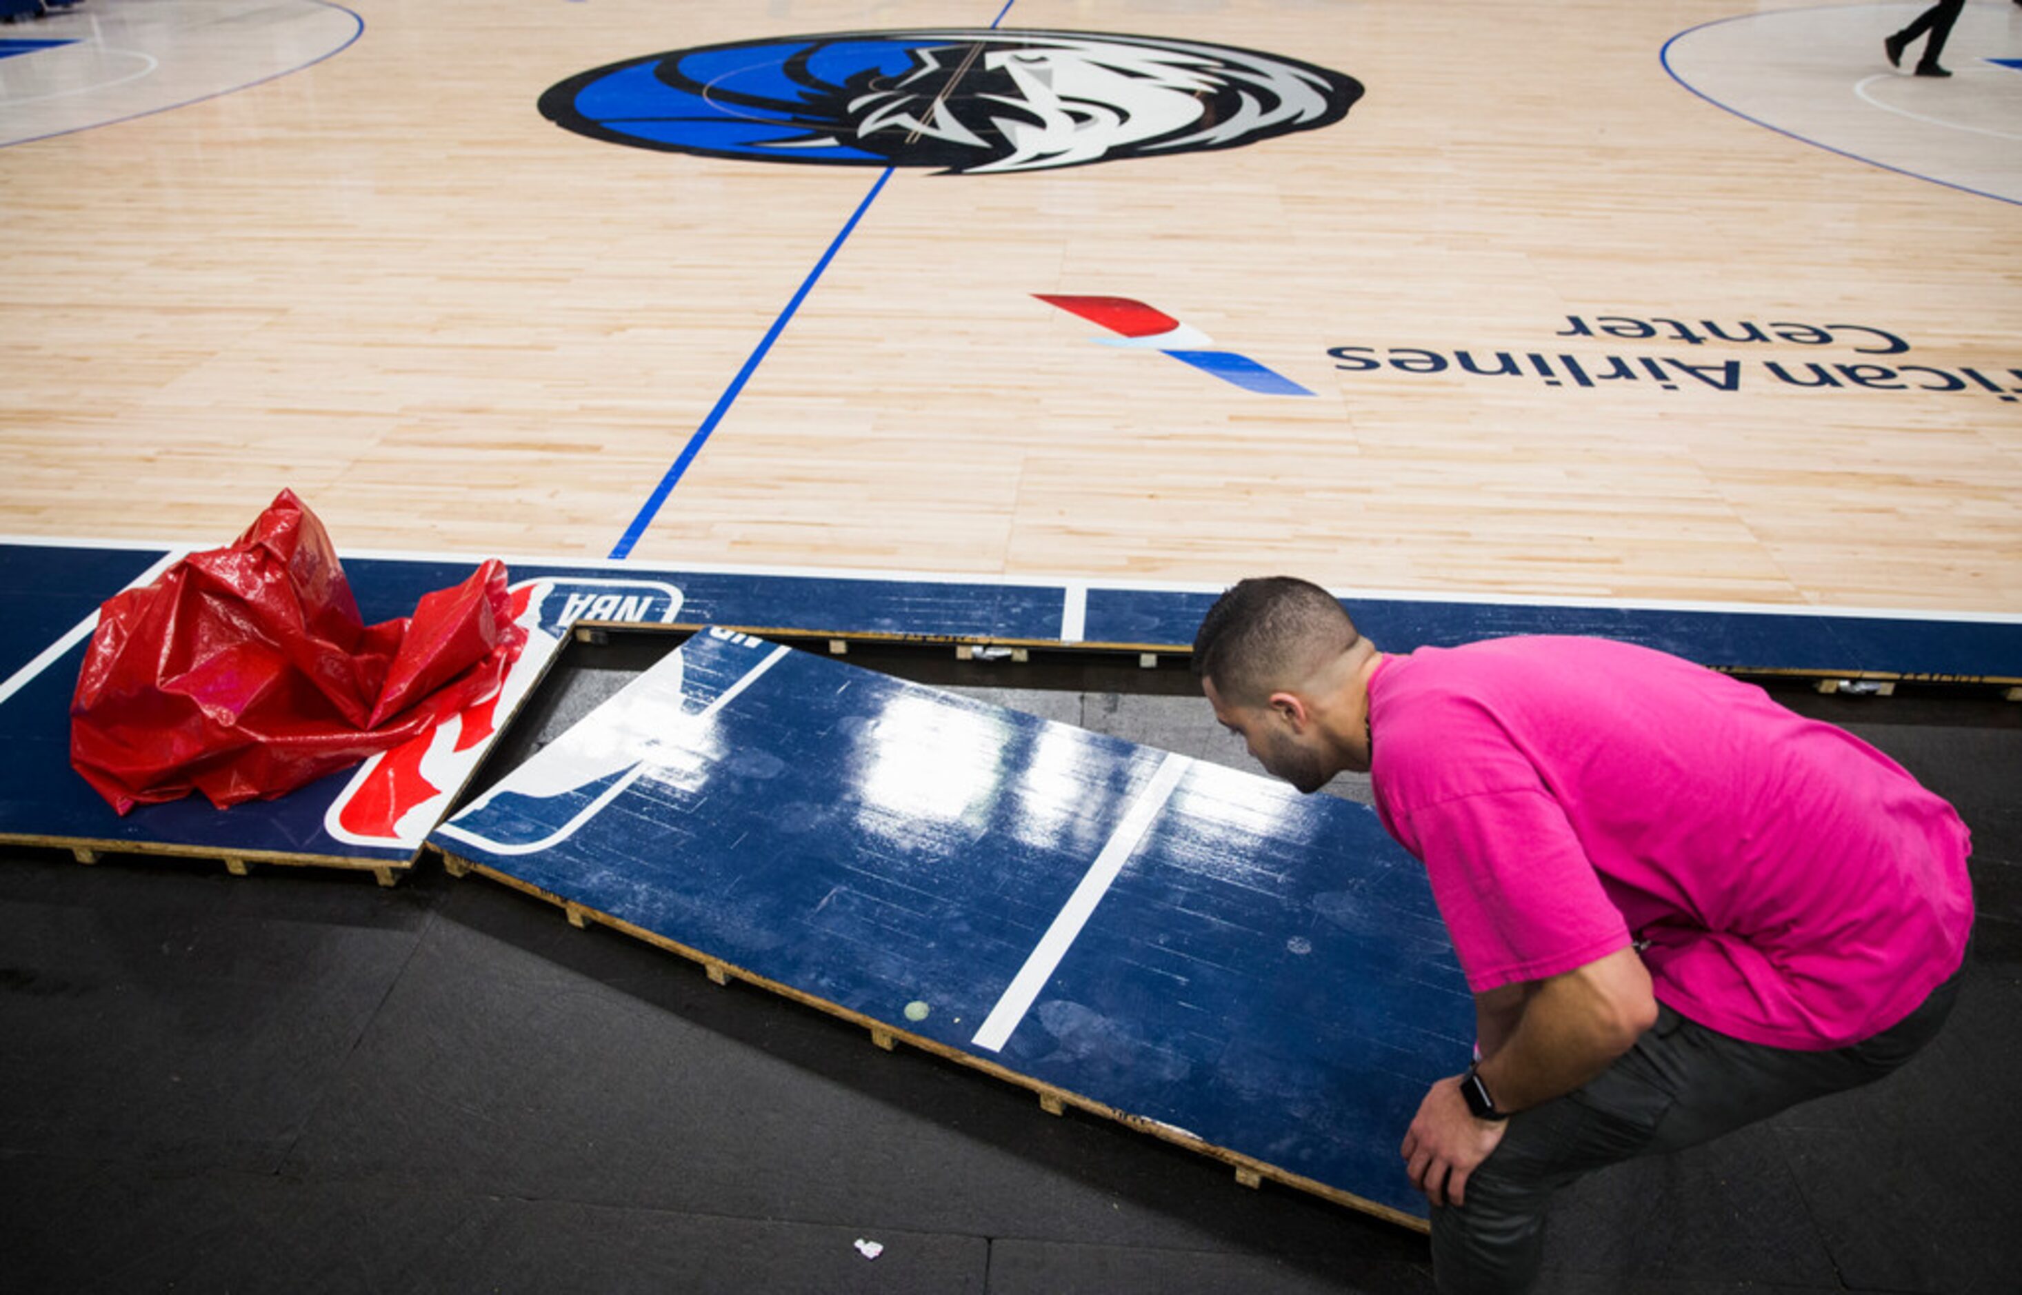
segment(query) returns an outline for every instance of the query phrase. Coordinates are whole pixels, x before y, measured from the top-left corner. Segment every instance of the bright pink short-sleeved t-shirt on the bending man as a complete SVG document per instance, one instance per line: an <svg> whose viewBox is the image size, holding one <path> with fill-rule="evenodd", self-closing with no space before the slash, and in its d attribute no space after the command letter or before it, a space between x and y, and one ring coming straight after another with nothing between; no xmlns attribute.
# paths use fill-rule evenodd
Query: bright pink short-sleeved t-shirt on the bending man
<svg viewBox="0 0 2022 1295"><path fill-rule="evenodd" d="M1383 659L1369 723L1377 812L1476 992L1648 941L1686 1018L1832 1049L1965 956L1959 816L1753 685L1603 638L1496 638Z"/></svg>

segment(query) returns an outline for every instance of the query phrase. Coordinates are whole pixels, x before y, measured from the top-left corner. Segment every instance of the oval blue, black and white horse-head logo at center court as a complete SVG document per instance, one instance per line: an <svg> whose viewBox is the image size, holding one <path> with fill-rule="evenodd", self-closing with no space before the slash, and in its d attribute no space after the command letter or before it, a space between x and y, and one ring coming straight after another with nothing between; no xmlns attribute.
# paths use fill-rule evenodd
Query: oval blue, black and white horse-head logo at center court
<svg viewBox="0 0 2022 1295"><path fill-rule="evenodd" d="M635 147L981 176L1242 147L1330 125L1361 95L1324 67L1197 40L934 28L649 55L562 81L540 111Z"/></svg>

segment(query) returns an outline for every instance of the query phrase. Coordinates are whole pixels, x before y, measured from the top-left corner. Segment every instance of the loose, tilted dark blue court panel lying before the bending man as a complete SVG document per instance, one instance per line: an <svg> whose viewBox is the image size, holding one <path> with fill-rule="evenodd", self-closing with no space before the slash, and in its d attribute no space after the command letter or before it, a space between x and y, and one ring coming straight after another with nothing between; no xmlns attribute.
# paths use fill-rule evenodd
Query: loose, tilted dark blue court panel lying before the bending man
<svg viewBox="0 0 2022 1295"><path fill-rule="evenodd" d="M977 1030L1163 758L805 653L702 719L768 651L692 638L433 840L894 1030L1423 1214L1397 1143L1426 1087L1464 1069L1472 998L1423 873L1367 808L1191 766L991 1053Z"/></svg>

